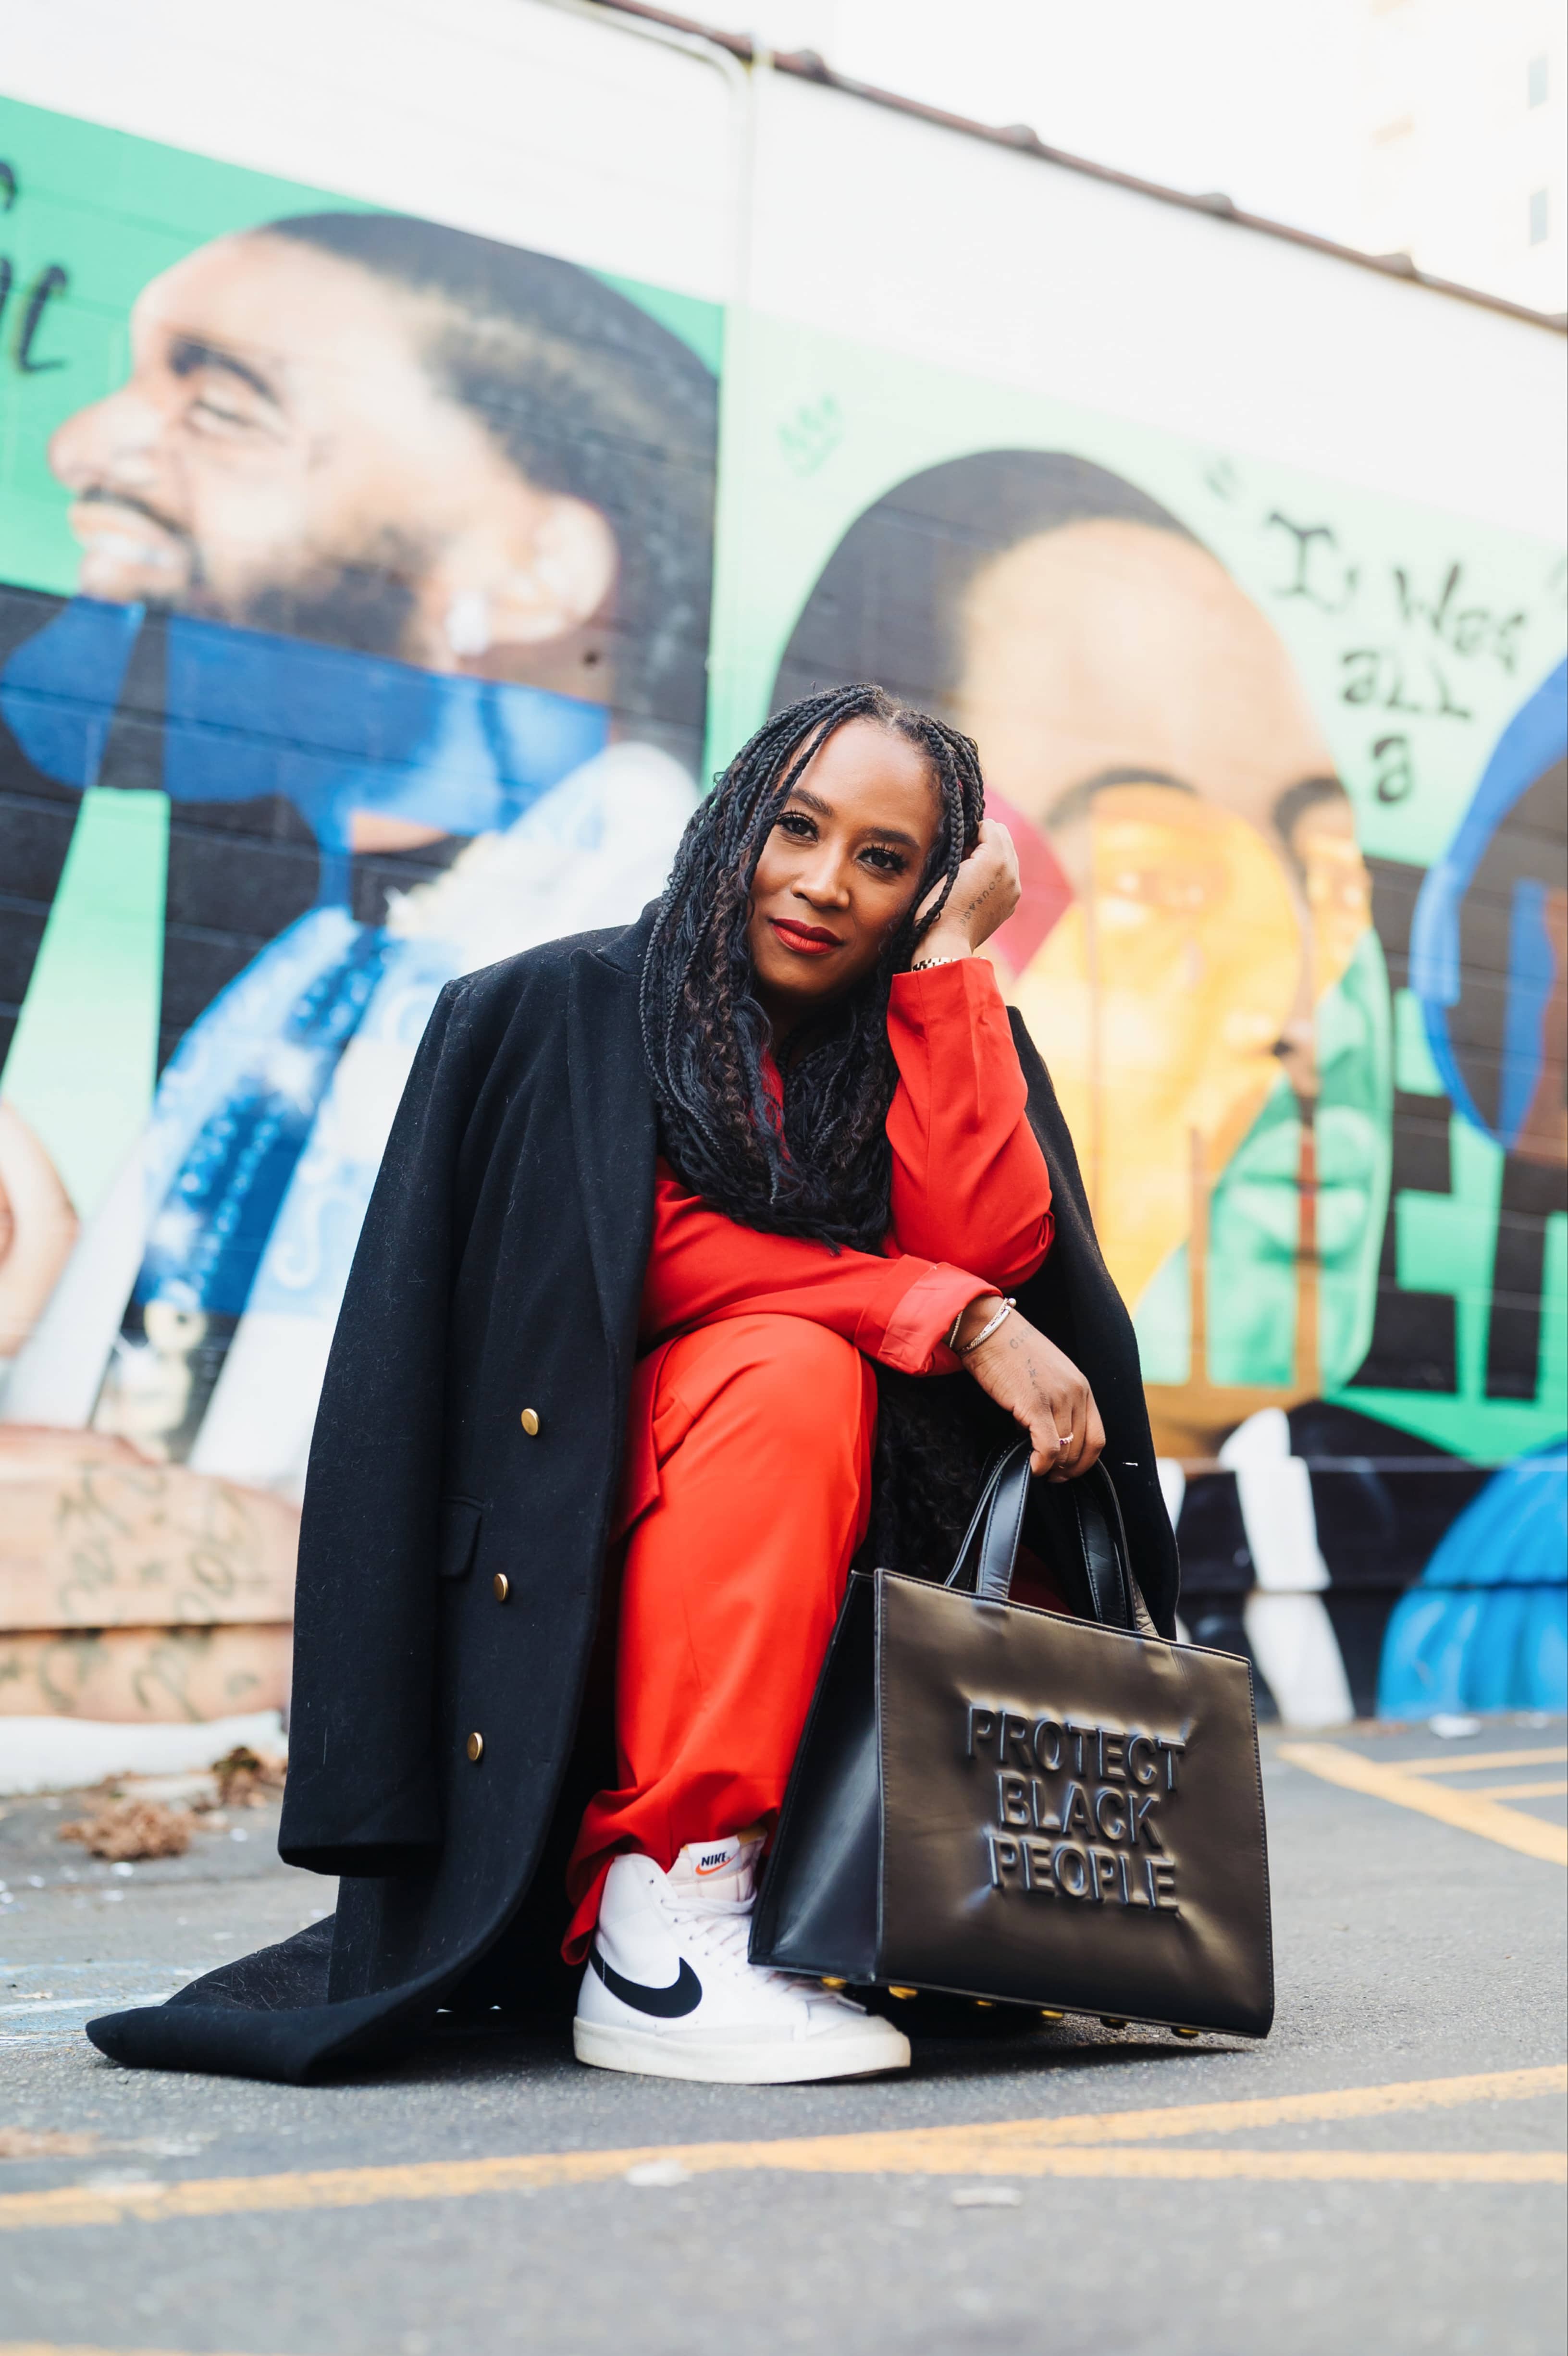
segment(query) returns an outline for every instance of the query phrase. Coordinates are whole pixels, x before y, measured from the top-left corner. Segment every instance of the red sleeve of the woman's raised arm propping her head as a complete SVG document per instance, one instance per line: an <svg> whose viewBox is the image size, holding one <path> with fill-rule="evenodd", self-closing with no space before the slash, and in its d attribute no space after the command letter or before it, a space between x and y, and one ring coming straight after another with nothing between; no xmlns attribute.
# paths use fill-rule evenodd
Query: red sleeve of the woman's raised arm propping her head
<svg viewBox="0 0 1568 2356"><path fill-rule="evenodd" d="M897 1249L961 1260L1010 1291L1050 1251L1050 1173L986 959L895 973L888 1039L899 1067L888 1110Z"/></svg>

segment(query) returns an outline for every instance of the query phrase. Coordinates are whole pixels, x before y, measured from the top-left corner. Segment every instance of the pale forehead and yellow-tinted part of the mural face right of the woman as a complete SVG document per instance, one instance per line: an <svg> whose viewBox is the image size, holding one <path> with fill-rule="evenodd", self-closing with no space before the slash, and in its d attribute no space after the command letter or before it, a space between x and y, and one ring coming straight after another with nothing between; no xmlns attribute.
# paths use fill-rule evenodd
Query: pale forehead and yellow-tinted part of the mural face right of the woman
<svg viewBox="0 0 1568 2356"><path fill-rule="evenodd" d="M1076 900L1017 975L1137 1301L1368 924L1349 803L1290 660L1208 551L1137 521L1019 542L970 582L956 714ZM1295 1171L1281 1171L1285 1185Z"/></svg>

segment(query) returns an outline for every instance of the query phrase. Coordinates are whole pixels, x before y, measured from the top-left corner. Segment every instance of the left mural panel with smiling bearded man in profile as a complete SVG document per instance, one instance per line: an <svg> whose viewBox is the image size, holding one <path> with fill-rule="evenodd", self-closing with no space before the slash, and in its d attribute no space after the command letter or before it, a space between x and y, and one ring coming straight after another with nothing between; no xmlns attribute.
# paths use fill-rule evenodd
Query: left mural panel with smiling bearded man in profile
<svg viewBox="0 0 1568 2356"><path fill-rule="evenodd" d="M285 1696L438 990L631 919L695 803L718 320L0 125L0 1708L210 1718Z"/></svg>

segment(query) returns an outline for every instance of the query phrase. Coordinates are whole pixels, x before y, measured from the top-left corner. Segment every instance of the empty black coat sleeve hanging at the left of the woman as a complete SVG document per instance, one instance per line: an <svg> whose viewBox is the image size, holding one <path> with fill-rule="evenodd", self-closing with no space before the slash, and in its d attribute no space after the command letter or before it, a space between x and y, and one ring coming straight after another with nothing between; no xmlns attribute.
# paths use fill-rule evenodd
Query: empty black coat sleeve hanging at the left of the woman
<svg viewBox="0 0 1568 2356"><path fill-rule="evenodd" d="M436 1541L469 1063L464 990L447 982L370 1197L311 1440L278 1849L315 1873L407 1873L443 1835Z"/></svg>

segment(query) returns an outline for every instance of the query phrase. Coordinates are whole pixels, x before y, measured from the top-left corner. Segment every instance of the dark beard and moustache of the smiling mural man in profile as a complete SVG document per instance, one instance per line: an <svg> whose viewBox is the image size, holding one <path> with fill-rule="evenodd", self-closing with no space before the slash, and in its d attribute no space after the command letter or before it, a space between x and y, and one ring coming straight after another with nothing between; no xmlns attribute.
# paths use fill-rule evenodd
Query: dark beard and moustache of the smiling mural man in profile
<svg viewBox="0 0 1568 2356"><path fill-rule="evenodd" d="M200 540L172 516L122 490L85 490L80 507L122 514L151 523L160 549L146 605L153 613L184 613L202 622L231 622L283 638L311 638L318 646L341 646L360 655L391 655L417 662L414 613L417 582L426 575L431 551L407 532L381 528L353 556L306 554L287 580L259 580L245 589L221 591L202 554Z"/></svg>

